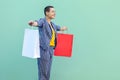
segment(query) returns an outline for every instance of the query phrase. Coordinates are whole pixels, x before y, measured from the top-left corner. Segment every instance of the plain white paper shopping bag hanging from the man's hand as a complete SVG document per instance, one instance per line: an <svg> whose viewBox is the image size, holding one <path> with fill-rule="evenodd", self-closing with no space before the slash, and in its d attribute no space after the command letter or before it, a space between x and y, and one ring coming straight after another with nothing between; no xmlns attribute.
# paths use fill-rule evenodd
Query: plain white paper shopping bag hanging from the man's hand
<svg viewBox="0 0 120 80"><path fill-rule="evenodd" d="M22 56L29 58L40 58L39 31L25 29Z"/></svg>

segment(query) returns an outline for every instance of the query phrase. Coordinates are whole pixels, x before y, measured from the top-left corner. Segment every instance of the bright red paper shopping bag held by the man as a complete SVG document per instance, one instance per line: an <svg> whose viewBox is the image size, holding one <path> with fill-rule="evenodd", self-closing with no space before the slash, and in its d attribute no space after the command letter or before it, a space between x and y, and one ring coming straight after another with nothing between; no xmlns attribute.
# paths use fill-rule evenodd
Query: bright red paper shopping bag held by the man
<svg viewBox="0 0 120 80"><path fill-rule="evenodd" d="M72 34L57 34L57 46L54 51L54 56L71 57L73 45Z"/></svg>

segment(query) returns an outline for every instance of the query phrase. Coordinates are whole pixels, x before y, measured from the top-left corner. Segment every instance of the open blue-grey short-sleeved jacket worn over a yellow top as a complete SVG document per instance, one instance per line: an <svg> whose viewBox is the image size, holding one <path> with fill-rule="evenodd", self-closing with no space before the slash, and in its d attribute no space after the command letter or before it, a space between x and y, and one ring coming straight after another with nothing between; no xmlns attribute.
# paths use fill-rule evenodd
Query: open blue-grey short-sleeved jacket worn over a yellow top
<svg viewBox="0 0 120 80"><path fill-rule="evenodd" d="M36 20L36 21L38 23L40 48L43 48L44 50L46 50L49 47L50 40L52 37L51 28L49 27L49 24L48 24L46 18L40 18L39 20ZM55 30L55 35L56 35L56 39L57 39L57 31L60 31L60 26L54 24L53 22L51 22L51 24ZM57 44L56 39L55 39L55 44Z"/></svg>

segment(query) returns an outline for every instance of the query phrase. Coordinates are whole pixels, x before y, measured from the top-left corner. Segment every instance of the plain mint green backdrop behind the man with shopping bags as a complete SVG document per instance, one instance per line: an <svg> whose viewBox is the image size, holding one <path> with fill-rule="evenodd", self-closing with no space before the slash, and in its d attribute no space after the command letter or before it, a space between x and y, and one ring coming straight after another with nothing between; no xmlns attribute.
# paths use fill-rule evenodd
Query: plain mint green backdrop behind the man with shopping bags
<svg viewBox="0 0 120 80"><path fill-rule="evenodd" d="M0 0L0 80L37 80L37 62L21 56L29 20L56 9L74 34L71 58L54 57L50 80L120 80L119 0Z"/></svg>

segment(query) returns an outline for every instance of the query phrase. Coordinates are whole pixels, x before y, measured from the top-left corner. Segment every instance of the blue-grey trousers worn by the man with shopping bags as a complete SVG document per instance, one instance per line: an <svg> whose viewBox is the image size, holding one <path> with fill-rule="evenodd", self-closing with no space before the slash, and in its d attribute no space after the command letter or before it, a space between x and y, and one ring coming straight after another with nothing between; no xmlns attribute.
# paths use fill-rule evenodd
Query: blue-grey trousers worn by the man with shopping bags
<svg viewBox="0 0 120 80"><path fill-rule="evenodd" d="M39 80L50 79L53 50L53 47L49 47L47 50L40 48L41 57L37 58Z"/></svg>

